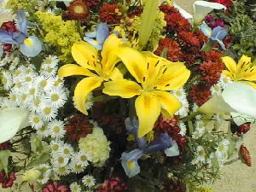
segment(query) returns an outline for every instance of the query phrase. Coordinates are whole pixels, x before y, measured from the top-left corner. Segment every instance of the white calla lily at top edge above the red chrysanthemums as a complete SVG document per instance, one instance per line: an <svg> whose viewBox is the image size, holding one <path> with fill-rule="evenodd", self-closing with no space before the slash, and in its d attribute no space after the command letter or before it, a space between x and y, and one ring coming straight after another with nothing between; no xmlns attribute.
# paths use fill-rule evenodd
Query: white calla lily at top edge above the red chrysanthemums
<svg viewBox="0 0 256 192"><path fill-rule="evenodd" d="M182 9L177 5L177 3L173 2L173 7L179 10L179 13L183 15L183 17L189 20L190 24L198 26L205 19L205 16L209 14L212 9L227 9L223 4L220 3L212 3L207 1L195 1L193 3L193 15L190 15L187 11Z"/></svg>

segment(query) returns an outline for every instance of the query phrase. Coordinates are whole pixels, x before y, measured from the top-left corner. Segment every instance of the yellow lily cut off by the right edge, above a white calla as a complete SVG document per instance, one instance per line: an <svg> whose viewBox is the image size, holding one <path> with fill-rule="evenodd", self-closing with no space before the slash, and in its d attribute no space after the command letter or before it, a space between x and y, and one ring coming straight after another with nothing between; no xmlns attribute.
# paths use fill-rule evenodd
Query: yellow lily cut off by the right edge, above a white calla
<svg viewBox="0 0 256 192"><path fill-rule="evenodd" d="M251 57L242 55L237 65L236 61L230 56L224 56L222 60L228 68L228 70L222 71L227 77L235 82L239 81L241 83L250 84L256 88L256 84L252 82L256 80L256 66L253 66Z"/></svg>

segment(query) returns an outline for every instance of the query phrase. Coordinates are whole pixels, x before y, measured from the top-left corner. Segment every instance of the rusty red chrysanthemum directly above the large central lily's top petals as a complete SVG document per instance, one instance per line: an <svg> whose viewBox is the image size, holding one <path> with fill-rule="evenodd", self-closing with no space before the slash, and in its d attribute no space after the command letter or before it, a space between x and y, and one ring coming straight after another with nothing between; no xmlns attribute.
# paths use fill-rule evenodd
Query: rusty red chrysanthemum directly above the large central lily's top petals
<svg viewBox="0 0 256 192"><path fill-rule="evenodd" d="M166 50L166 59L172 62L180 61L183 55L177 42L170 38L160 38L159 46L154 51L154 54L161 55L164 50Z"/></svg>

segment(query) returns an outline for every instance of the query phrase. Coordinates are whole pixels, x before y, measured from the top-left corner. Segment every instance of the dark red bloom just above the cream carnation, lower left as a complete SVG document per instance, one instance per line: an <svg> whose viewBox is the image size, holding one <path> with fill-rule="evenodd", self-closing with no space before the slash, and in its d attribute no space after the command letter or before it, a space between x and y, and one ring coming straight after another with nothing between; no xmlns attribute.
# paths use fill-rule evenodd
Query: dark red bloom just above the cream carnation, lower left
<svg viewBox="0 0 256 192"><path fill-rule="evenodd" d="M92 132L93 125L90 124L84 114L78 114L67 120L67 140L78 142L79 138L86 137Z"/></svg>

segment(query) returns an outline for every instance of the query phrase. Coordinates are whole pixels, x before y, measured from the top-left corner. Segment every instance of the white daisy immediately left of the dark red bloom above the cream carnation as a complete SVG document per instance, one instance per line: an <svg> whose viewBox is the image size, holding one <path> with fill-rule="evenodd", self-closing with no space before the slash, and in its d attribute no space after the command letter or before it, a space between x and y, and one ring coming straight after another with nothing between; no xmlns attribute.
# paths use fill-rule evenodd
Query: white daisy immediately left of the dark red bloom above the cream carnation
<svg viewBox="0 0 256 192"><path fill-rule="evenodd" d="M48 125L49 134L52 138L62 138L64 137L66 130L65 130L64 122L61 120L53 120Z"/></svg>

